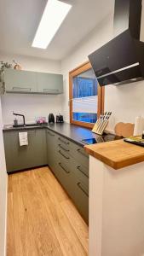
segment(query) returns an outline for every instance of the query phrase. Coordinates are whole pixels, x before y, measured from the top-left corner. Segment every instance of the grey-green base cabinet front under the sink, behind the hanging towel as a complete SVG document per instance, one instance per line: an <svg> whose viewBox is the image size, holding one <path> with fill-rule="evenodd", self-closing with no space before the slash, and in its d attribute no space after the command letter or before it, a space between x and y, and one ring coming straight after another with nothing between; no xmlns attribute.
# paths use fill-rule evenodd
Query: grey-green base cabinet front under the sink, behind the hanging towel
<svg viewBox="0 0 144 256"><path fill-rule="evenodd" d="M28 145L22 147L19 143L19 131L3 133L7 172L47 165L45 130L25 131L27 131Z"/></svg>

